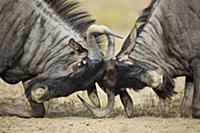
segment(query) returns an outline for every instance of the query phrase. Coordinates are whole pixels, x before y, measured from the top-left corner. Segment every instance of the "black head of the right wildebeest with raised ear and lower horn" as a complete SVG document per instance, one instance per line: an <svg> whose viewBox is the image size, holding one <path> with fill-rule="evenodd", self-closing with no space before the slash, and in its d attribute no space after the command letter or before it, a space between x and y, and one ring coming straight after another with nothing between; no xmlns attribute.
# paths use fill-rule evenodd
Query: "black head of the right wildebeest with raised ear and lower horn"
<svg viewBox="0 0 200 133"><path fill-rule="evenodd" d="M167 74L159 74L159 70L156 70L154 66L129 57L129 53L135 46L136 37L137 29L134 27L126 38L120 53L116 57L105 61L104 77L98 83L108 94L107 107L104 109L94 108L79 97L95 116L105 117L108 115L114 106L115 95L120 94L126 88L140 90L146 86L152 87L164 99L173 94L174 82ZM127 95L125 96L126 99L129 99ZM132 103L132 101L128 102Z"/></svg>

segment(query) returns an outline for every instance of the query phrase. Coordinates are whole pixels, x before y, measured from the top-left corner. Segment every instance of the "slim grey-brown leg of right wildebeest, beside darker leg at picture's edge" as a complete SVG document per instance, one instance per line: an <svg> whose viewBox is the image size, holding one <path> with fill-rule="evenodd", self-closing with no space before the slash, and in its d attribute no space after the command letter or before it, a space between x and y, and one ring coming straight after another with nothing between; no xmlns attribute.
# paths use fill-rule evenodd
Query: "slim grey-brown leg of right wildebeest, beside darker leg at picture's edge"
<svg viewBox="0 0 200 133"><path fill-rule="evenodd" d="M182 117L192 117L192 98L194 92L193 81L186 77L185 92L180 108Z"/></svg>

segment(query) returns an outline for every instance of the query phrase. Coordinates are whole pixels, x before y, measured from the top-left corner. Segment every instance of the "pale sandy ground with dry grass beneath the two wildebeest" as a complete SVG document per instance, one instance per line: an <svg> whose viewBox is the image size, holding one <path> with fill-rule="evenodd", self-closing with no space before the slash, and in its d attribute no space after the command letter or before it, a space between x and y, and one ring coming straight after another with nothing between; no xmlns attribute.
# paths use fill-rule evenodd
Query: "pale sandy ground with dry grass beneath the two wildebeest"
<svg viewBox="0 0 200 133"><path fill-rule="evenodd" d="M179 82L182 82L179 81ZM108 118L97 119L76 97L87 99L86 92L67 98L52 99L45 103L45 118L19 118L9 113L30 113L29 104L21 84L17 86L0 83L0 133L198 133L200 120L180 118L179 106L182 92L172 100L160 101L150 88L141 92L129 91L134 100L134 116L127 118L119 98ZM182 85L178 84L179 89ZM102 105L105 94L100 92ZM88 99L87 99L88 100ZM25 110L25 111L24 111Z"/></svg>

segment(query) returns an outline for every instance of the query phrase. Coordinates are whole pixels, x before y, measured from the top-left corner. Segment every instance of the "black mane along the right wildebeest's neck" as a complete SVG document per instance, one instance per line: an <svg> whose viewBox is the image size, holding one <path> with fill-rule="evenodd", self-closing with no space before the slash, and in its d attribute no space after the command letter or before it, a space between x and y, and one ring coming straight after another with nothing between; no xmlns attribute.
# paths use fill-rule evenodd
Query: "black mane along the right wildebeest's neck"
<svg viewBox="0 0 200 133"><path fill-rule="evenodd" d="M139 34L144 26L146 25L146 23L148 22L151 14L152 14L152 11L153 11L153 8L154 8L154 4L157 2L157 0L151 0L151 3L149 4L148 7L146 7L143 11L142 11L142 14L139 16L139 18L137 19L136 21L136 24L137 23L140 23L141 25L138 27L137 29L137 34Z"/></svg>

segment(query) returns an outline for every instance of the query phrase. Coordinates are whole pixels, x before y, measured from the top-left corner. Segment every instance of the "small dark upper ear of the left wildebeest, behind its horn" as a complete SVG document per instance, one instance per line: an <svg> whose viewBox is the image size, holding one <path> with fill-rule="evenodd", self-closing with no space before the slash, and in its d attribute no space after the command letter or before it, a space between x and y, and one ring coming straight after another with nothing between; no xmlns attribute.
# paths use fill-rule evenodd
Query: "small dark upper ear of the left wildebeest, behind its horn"
<svg viewBox="0 0 200 133"><path fill-rule="evenodd" d="M69 40L69 46L71 47L71 48L73 48L75 51L77 51L77 52L86 52L87 51L87 49L85 49L84 47L82 47L78 42L76 42L75 40L74 40L74 38L71 38L70 40Z"/></svg>

